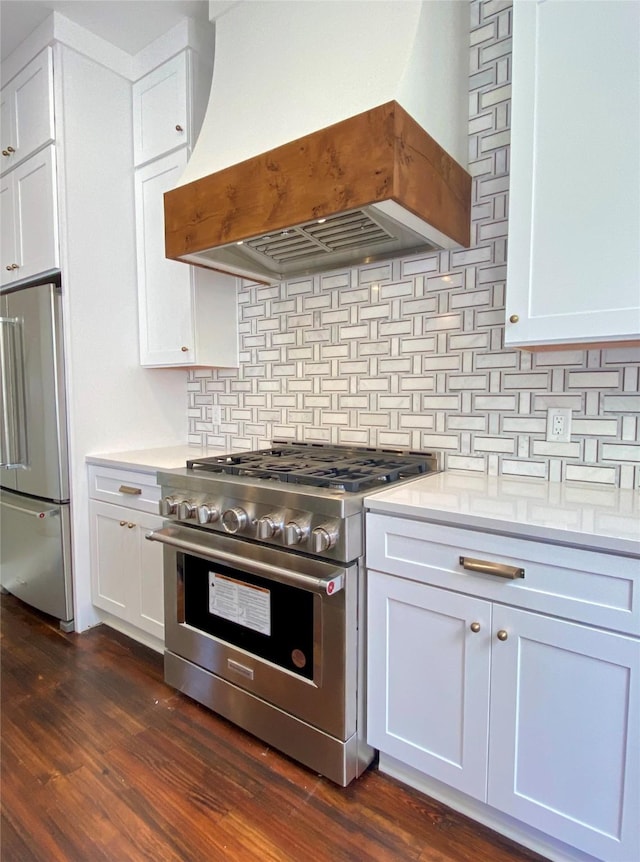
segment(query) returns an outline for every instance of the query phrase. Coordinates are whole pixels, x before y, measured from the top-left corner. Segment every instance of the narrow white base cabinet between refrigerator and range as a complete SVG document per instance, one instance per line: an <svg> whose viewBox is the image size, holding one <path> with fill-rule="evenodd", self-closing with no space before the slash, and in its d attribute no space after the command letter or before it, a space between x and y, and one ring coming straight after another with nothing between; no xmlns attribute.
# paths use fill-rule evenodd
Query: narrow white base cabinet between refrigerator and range
<svg viewBox="0 0 640 862"><path fill-rule="evenodd" d="M118 621L128 624L122 629L127 634L159 646L142 634L164 641L162 546L145 538L162 526L159 515L144 511L149 508L149 478L90 468L92 492L98 497L89 503L91 590L94 605L109 614L107 623L116 623L116 627ZM124 490L119 492L119 488ZM118 493L141 508L104 502ZM152 505L155 508L157 503Z"/></svg>

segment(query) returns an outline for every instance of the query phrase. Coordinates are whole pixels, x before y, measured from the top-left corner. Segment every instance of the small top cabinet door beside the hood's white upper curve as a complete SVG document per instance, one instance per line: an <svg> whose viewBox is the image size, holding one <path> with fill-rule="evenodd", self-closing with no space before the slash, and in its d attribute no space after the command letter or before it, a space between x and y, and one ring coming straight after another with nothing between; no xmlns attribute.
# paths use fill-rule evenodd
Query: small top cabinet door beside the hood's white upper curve
<svg viewBox="0 0 640 862"><path fill-rule="evenodd" d="M134 164L191 143L190 62L183 51L133 85Z"/></svg>

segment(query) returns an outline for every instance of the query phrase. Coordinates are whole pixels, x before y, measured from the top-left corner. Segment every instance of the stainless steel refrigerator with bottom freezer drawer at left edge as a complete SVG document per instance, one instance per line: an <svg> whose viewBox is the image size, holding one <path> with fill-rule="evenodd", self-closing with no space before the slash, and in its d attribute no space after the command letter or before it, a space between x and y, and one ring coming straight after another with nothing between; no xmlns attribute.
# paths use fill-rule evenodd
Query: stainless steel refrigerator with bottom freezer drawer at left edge
<svg viewBox="0 0 640 862"><path fill-rule="evenodd" d="M0 291L0 584L73 630L58 273Z"/></svg>

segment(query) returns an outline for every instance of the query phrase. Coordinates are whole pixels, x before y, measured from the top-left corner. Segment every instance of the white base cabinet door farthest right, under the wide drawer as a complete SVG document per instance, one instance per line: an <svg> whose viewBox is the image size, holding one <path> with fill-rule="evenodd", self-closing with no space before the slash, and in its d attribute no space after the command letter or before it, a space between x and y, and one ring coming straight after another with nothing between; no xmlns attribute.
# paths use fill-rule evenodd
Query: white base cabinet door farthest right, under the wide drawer
<svg viewBox="0 0 640 862"><path fill-rule="evenodd" d="M489 804L597 859L639 859L638 640L515 608L493 619Z"/></svg>

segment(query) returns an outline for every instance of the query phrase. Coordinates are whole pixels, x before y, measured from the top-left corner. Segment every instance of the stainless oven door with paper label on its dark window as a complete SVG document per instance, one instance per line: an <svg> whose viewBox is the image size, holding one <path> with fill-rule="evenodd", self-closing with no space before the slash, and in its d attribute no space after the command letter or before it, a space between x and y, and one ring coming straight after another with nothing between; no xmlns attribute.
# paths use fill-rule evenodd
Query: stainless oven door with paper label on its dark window
<svg viewBox="0 0 640 862"><path fill-rule="evenodd" d="M357 563L173 523L148 538L165 546L169 653L337 739L354 734Z"/></svg>

